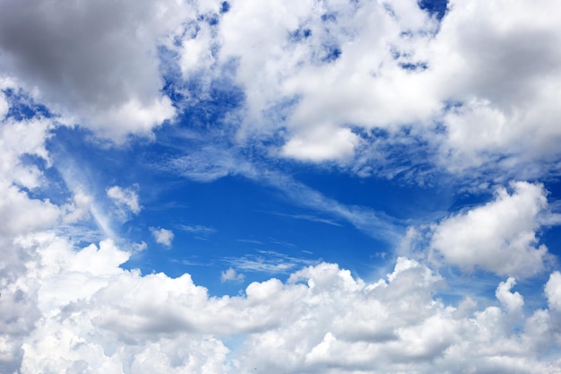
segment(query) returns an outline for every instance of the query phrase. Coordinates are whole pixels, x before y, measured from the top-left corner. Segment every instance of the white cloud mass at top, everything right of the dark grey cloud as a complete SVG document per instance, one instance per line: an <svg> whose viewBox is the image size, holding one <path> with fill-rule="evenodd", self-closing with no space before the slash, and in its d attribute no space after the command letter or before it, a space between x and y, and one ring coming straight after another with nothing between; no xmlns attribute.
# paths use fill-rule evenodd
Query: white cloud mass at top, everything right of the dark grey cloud
<svg viewBox="0 0 561 374"><path fill-rule="evenodd" d="M405 127L446 170L548 168L536 161L555 159L561 136L557 3L452 0L441 22L418 3L201 1L207 17L175 49L186 79L234 65L240 138L280 135L283 157L364 170L379 162L364 135L387 130L399 150Z"/></svg>

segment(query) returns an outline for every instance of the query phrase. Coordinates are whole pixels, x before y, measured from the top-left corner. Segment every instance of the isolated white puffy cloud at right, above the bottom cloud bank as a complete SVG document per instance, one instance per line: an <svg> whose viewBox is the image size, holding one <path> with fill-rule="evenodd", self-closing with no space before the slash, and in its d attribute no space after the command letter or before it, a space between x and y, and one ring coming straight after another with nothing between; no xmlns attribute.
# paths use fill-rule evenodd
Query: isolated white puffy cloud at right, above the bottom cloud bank
<svg viewBox="0 0 561 374"><path fill-rule="evenodd" d="M536 231L548 215L541 185L513 182L512 193L501 187L495 200L456 214L434 228L432 248L452 265L479 266L502 275L530 276L541 271L548 248Z"/></svg>

